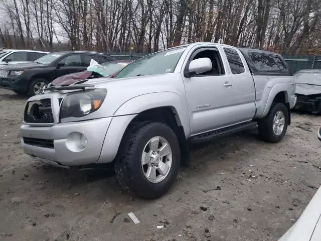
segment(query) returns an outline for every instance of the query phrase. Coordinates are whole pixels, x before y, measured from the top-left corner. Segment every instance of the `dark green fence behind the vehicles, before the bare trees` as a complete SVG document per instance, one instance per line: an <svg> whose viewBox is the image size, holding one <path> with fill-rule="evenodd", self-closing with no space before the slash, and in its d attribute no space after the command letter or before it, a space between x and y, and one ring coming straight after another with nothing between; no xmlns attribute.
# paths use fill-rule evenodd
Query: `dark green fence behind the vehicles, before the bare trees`
<svg viewBox="0 0 321 241"><path fill-rule="evenodd" d="M136 60L149 53L109 53L115 60ZM283 55L293 73L301 69L321 69L321 56L317 55Z"/></svg>

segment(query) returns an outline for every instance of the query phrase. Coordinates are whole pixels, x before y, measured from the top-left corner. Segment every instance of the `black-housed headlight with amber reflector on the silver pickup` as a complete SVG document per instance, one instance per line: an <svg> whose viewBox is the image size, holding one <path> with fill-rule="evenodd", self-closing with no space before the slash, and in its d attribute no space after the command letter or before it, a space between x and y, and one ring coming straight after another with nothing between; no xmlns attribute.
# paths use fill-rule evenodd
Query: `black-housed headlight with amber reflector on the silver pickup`
<svg viewBox="0 0 321 241"><path fill-rule="evenodd" d="M106 93L106 89L69 93L61 104L60 118L82 117L96 111L104 101Z"/></svg>

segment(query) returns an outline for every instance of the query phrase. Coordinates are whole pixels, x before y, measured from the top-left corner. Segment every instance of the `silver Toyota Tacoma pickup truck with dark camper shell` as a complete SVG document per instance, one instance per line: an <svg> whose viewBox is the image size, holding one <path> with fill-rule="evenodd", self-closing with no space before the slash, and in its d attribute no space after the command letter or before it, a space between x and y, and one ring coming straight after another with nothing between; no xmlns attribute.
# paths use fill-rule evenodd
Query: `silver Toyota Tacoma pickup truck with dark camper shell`
<svg viewBox="0 0 321 241"><path fill-rule="evenodd" d="M48 86L28 99L25 153L59 167L113 164L122 187L157 198L171 187L189 144L258 125L279 142L295 83L276 53L194 43L147 55L113 79Z"/></svg>

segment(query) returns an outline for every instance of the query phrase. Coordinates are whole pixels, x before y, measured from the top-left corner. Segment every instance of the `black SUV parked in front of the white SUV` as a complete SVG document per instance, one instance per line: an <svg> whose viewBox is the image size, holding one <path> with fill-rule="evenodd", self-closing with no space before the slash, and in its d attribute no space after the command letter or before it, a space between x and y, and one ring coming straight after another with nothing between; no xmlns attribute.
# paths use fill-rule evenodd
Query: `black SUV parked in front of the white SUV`
<svg viewBox="0 0 321 241"><path fill-rule="evenodd" d="M0 69L0 87L17 94L35 95L59 76L85 70L90 60L99 64L111 61L105 54L89 51L56 52L32 63L14 64Z"/></svg>

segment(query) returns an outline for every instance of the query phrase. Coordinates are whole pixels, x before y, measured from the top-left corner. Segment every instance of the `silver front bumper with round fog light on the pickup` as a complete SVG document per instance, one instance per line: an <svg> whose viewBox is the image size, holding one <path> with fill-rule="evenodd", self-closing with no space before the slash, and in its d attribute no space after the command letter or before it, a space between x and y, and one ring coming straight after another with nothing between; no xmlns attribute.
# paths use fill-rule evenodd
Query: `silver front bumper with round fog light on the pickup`
<svg viewBox="0 0 321 241"><path fill-rule="evenodd" d="M105 117L84 122L60 123L51 127L24 124L21 126L21 145L26 154L47 159L44 162L51 165L69 167L93 164L100 157L111 119L112 117ZM87 139L86 147L81 144L81 135ZM47 143L53 141L53 146L44 147L27 140L43 140Z"/></svg>

